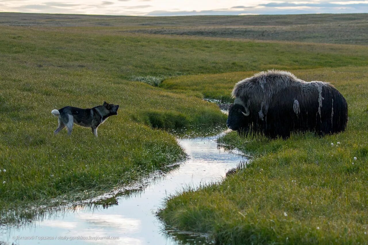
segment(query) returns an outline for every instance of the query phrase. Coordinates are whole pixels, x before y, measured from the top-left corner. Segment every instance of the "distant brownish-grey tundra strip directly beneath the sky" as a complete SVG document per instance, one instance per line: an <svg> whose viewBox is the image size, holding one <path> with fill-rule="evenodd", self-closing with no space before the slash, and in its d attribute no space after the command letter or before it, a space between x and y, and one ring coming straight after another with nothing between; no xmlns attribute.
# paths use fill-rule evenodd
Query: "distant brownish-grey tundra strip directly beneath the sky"
<svg viewBox="0 0 368 245"><path fill-rule="evenodd" d="M368 14L132 17L0 13L0 25L119 27L120 32L159 35L367 45L367 17Z"/></svg>

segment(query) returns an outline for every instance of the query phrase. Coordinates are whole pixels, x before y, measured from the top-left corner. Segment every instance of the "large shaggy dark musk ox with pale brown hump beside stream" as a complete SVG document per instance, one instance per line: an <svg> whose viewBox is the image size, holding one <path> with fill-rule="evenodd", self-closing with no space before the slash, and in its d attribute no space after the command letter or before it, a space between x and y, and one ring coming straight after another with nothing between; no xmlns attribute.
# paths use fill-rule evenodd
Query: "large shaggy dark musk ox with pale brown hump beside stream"
<svg viewBox="0 0 368 245"><path fill-rule="evenodd" d="M305 82L290 72L269 70L238 82L227 127L241 135L288 138L291 132L342 132L347 103L327 82Z"/></svg>

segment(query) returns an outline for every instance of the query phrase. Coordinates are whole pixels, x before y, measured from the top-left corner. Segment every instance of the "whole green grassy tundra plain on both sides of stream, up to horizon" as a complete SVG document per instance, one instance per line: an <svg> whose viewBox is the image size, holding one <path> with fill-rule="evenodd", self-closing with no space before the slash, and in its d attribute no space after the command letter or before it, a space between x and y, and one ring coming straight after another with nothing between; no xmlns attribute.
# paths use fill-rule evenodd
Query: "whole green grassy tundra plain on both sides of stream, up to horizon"
<svg viewBox="0 0 368 245"><path fill-rule="evenodd" d="M237 81L283 69L339 89L347 130L286 141L231 132L219 143L252 163L221 183L171 196L159 217L219 244L367 243L367 17L0 13L1 223L184 159L166 129L223 124L217 106L202 99L231 102ZM53 136L52 109L104 100L120 109L99 138L80 127Z"/></svg>

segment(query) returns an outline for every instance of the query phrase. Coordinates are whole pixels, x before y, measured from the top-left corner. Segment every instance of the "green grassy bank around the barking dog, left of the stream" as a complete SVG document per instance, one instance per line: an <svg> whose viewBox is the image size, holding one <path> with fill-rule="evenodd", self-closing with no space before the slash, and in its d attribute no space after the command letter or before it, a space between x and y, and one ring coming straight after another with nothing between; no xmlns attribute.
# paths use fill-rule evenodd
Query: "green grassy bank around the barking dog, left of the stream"
<svg viewBox="0 0 368 245"><path fill-rule="evenodd" d="M197 97L164 92L140 82L96 72L34 71L2 64L0 125L0 211L69 201L128 184L183 159L173 136L155 128L220 124L218 108ZM99 127L74 127L54 136L52 109L120 104L119 115ZM6 184L2 184L6 181Z"/></svg>

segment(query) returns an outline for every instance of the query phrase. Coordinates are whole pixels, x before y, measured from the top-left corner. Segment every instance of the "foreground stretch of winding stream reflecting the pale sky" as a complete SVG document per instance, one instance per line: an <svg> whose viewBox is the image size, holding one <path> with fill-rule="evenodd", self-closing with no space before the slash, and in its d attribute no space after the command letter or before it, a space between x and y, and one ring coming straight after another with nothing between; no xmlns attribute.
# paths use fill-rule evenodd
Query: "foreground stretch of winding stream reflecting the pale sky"
<svg viewBox="0 0 368 245"><path fill-rule="evenodd" d="M67 208L29 225L0 227L0 244L210 244L198 235L165 230L155 213L168 195L221 181L227 171L247 162L240 152L216 143L223 132L215 134L197 138L177 134L188 159L167 173L157 171L140 191L104 198L92 207ZM108 236L118 239L97 239Z"/></svg>

